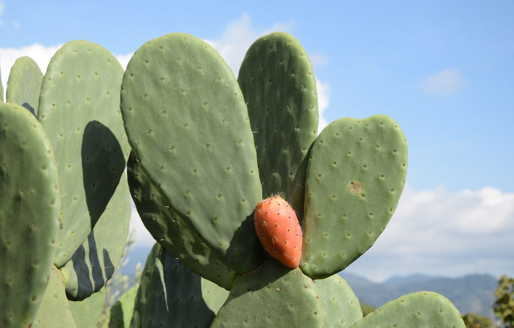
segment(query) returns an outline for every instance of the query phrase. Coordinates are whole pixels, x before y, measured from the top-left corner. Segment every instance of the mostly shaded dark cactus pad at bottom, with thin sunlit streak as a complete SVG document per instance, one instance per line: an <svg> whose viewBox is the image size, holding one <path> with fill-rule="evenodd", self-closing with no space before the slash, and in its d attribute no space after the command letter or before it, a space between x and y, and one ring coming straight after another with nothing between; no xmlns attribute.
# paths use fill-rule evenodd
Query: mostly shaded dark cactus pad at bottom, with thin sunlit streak
<svg viewBox="0 0 514 328"><path fill-rule="evenodd" d="M210 326L229 292L206 284L161 248L147 293L142 327L200 328Z"/></svg>

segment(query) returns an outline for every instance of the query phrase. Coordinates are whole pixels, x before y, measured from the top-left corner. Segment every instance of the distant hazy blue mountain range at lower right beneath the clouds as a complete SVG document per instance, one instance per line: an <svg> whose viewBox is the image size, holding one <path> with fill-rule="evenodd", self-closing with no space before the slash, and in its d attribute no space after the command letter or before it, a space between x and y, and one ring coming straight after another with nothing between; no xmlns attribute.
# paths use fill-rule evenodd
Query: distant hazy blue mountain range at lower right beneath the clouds
<svg viewBox="0 0 514 328"><path fill-rule="evenodd" d="M383 283L375 283L353 274L341 276L364 303L377 308L402 295L431 291L447 297L462 313L469 312L491 317L494 291L498 279L490 275L473 274L460 278L430 277L421 274L393 276Z"/></svg>

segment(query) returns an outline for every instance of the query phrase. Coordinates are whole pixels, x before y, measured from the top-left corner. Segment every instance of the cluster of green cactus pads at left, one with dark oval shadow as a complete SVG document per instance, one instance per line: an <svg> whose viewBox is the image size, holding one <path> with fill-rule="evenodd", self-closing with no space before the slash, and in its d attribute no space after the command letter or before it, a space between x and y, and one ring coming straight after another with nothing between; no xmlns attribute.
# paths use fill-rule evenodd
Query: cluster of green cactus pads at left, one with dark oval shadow
<svg viewBox="0 0 514 328"><path fill-rule="evenodd" d="M52 270L49 257L64 299L98 292L118 266L131 212L122 76L111 53L84 40L59 49L44 76L29 57L11 69L0 114L0 265L12 268L0 273L8 282L0 293L10 303L0 300L1 326L32 324ZM45 293L62 298L60 287ZM56 326L62 302L47 299L50 308L41 306L34 324Z"/></svg>

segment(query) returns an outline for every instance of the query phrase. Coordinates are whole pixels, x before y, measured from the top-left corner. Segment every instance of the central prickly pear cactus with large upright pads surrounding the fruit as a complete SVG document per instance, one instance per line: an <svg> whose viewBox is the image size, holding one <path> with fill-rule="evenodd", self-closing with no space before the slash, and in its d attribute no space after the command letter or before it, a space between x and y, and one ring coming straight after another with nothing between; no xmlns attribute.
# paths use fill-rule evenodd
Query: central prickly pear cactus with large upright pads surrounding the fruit
<svg viewBox="0 0 514 328"><path fill-rule="evenodd" d="M164 35L136 51L121 90L128 181L145 226L192 271L230 290L213 326L361 322L355 295L333 275L371 247L405 185L407 143L392 118L344 118L318 135L310 61L282 32L256 40L237 81L208 44ZM252 212L275 194L303 223L296 269L264 260L255 238ZM221 270L211 272L216 263ZM233 285L225 265L237 273ZM164 322L145 306L144 322Z"/></svg>

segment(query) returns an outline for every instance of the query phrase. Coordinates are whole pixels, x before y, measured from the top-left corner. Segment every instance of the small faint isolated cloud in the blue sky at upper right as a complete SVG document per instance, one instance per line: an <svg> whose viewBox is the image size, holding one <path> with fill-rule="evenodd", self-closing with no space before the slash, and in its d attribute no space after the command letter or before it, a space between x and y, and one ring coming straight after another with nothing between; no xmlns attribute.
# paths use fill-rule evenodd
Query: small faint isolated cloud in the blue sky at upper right
<svg viewBox="0 0 514 328"><path fill-rule="evenodd" d="M457 93L464 86L465 79L454 69L447 69L427 77L423 82L423 90L431 95L449 96Z"/></svg>

